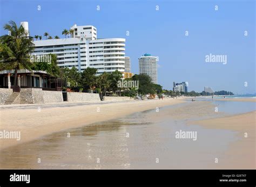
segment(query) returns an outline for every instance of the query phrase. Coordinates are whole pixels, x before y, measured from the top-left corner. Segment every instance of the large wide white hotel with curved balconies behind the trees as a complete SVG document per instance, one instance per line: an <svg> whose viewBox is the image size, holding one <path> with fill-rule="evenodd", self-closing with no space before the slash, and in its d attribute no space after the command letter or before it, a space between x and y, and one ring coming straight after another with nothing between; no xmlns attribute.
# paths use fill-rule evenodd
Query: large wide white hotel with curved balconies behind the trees
<svg viewBox="0 0 256 187"><path fill-rule="evenodd" d="M76 67L83 71L96 68L97 75L104 71L125 71L125 39L97 39L97 29L92 25L71 27L70 38L33 41L33 55L56 54L59 67Z"/></svg>

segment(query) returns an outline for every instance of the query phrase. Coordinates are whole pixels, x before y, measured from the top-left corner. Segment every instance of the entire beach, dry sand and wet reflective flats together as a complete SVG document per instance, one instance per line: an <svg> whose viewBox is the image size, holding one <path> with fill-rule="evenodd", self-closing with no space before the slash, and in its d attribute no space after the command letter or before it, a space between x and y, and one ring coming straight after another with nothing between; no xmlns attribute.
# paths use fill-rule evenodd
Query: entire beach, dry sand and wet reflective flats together
<svg viewBox="0 0 256 187"><path fill-rule="evenodd" d="M219 102L178 98L2 107L1 130L21 131L21 140L0 139L0 168L255 169L256 111L240 114L242 103L228 102L233 113L215 112L216 104L224 106ZM197 138L176 139L179 131L197 132Z"/></svg>

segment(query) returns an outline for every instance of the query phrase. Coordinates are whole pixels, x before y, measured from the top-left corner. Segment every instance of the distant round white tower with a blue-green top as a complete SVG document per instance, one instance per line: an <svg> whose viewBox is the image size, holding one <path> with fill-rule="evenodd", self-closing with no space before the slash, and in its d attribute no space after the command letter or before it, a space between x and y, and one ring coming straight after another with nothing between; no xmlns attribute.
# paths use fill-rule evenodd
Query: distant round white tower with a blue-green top
<svg viewBox="0 0 256 187"><path fill-rule="evenodd" d="M157 56L144 54L139 58L139 74L147 74L152 78L152 83L157 84Z"/></svg>

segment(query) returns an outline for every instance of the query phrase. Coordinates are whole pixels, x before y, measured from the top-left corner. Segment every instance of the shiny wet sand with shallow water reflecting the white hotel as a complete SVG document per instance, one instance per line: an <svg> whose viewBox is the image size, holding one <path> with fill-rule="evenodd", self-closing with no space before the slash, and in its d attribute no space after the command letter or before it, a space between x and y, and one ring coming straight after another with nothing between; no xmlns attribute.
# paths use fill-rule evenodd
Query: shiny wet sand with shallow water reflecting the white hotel
<svg viewBox="0 0 256 187"><path fill-rule="evenodd" d="M212 108L206 102L178 104L160 108L161 112L138 112L125 118L53 133L3 149L0 168L216 168L215 155L224 153L228 144L236 140L235 132L186 125L187 120L194 118L222 115ZM181 111L181 117L177 116ZM175 132L179 130L197 131L198 140L175 139Z"/></svg>

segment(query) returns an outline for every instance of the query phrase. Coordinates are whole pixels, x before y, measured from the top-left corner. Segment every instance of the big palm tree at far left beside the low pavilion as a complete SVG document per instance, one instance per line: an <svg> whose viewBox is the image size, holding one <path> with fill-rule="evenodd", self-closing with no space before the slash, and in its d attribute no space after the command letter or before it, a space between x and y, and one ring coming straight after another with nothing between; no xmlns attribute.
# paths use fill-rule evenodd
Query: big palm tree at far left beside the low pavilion
<svg viewBox="0 0 256 187"><path fill-rule="evenodd" d="M14 21L4 25L4 30L9 31L10 35L5 34L0 37L1 52L0 61L5 67L15 69L14 85L17 85L18 69L30 69L30 53L33 52L34 44L32 37L26 36L24 27L17 26Z"/></svg>

